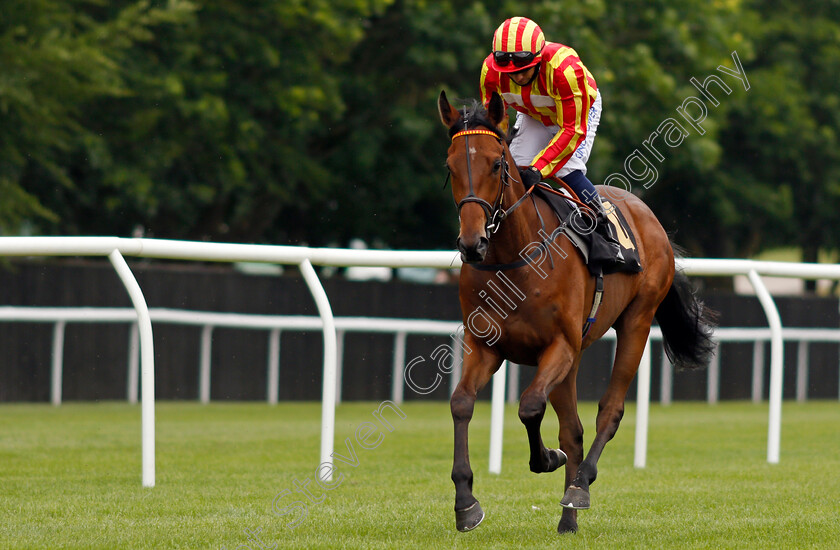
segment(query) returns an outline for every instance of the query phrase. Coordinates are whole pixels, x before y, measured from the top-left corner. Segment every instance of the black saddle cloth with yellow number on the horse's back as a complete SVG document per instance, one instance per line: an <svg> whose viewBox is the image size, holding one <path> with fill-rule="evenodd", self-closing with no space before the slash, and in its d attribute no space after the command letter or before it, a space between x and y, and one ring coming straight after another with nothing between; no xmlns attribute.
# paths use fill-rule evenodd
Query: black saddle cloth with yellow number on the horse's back
<svg viewBox="0 0 840 550"><path fill-rule="evenodd" d="M581 214L580 207L572 201L571 195L565 190L557 190L548 183L540 182L532 192L544 200L552 209L563 233L575 245L593 276L608 275L610 273L638 273L642 270L639 259L639 249L636 237L627 223L624 214L615 205L602 199L607 211L607 220L600 223L612 224L611 233L616 236L607 240L602 232L592 230L592 217ZM573 216L579 217L584 223L573 223Z"/></svg>

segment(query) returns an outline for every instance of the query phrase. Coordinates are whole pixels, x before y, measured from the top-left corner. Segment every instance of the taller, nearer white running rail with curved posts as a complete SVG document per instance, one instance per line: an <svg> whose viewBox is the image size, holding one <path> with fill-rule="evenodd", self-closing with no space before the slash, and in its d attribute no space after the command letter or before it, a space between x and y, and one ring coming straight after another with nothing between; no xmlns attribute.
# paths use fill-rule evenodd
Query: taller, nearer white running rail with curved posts
<svg viewBox="0 0 840 550"><path fill-rule="evenodd" d="M0 256L107 256L126 286L132 304L137 312L140 327L141 387L142 387L142 455L143 485L154 486L154 355L152 325L149 311L136 279L131 274L124 255L146 258L219 261L219 262L269 262L297 265L315 299L322 320L324 336L324 376L322 394L321 462L332 464L332 450L335 419L337 338L335 321L323 286L313 269L316 265L331 266L384 266L384 267L459 267L460 261L454 251L386 251L326 249L292 246L245 245L227 243L206 243L169 241L161 239L123 239L119 237L0 237ZM793 264L785 262L763 262L753 260L686 259L679 260L678 267L689 275L733 276L747 275L756 290L770 326L770 407L768 420L767 460L779 461L781 403L782 403L782 326L773 299L761 280L761 275L798 277L807 279L840 279L840 266L818 264ZM642 361L639 381L650 377L650 354ZM496 383L504 384L506 369L497 373ZM636 465L644 466L646 455L647 402L649 391L639 392L637 407ZM494 392L494 407L503 406L504 392ZM497 409L495 409L497 410ZM494 412L494 418L498 413ZM493 426L493 436L501 437L501 426ZM501 441L501 439L498 439ZM494 451L501 452L501 445L492 444ZM639 458L641 457L641 458ZM501 458L491 463L501 464ZM325 481L329 481L328 479Z"/></svg>

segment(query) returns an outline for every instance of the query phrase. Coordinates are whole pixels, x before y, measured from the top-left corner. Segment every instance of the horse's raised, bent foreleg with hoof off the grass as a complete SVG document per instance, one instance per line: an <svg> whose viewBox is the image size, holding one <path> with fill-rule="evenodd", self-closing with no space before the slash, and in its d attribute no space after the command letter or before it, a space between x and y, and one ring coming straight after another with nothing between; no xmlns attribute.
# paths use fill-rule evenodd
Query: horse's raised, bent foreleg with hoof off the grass
<svg viewBox="0 0 840 550"><path fill-rule="evenodd" d="M545 415L547 394L561 382L572 366L570 346L558 342L549 347L540 358L534 379L519 398L519 419L528 431L531 458L528 464L534 473L553 472L566 463L566 454L560 449L547 449L540 435L540 425Z"/></svg>

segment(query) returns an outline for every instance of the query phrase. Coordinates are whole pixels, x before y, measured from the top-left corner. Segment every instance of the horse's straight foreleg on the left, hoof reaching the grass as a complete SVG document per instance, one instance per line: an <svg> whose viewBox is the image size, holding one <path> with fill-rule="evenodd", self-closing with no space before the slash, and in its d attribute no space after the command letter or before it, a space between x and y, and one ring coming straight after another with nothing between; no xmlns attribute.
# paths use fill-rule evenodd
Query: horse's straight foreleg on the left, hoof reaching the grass
<svg viewBox="0 0 840 550"><path fill-rule="evenodd" d="M499 369L501 359L482 353L481 348L470 345L474 351L464 357L461 381L452 392L449 407L455 427L452 482L455 484L455 526L459 531L470 531L484 519L484 511L473 496L473 473L470 467L468 428L475 408L475 398L481 388Z"/></svg>

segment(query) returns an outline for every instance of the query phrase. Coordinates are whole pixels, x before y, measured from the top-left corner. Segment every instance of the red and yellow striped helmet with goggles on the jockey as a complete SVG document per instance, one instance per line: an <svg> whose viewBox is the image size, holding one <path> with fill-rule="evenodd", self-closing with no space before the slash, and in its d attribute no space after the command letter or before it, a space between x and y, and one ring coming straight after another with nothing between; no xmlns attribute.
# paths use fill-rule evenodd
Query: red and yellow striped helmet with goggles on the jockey
<svg viewBox="0 0 840 550"><path fill-rule="evenodd" d="M499 25L493 35L490 67L503 73L533 67L540 62L544 45L545 35L539 25L526 17L512 17Z"/></svg>

